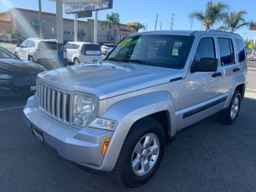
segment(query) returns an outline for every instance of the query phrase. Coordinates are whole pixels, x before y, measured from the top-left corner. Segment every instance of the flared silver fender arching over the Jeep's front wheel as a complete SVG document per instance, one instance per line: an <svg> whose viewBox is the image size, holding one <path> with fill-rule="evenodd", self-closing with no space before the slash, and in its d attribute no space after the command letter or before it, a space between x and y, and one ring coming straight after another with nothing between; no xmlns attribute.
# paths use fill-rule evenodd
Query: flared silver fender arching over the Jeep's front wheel
<svg viewBox="0 0 256 192"><path fill-rule="evenodd" d="M167 92L153 92L139 95L115 103L111 106L102 118L114 119L118 122L113 137L110 140L102 165L102 171L113 170L118 155L123 146L127 133L134 122L145 116L167 110L170 114L171 126L169 133L175 134L175 110L173 100Z"/></svg>

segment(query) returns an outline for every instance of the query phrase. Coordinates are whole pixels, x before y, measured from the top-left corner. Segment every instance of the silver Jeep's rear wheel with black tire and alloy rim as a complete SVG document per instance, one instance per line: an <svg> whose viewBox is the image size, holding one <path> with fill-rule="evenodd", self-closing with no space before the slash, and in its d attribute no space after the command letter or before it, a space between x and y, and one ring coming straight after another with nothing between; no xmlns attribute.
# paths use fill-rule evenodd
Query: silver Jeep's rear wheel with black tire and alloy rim
<svg viewBox="0 0 256 192"><path fill-rule="evenodd" d="M228 108L223 109L218 114L218 119L222 124L230 125L236 121L241 106L241 100L241 93L238 90L235 90Z"/></svg>

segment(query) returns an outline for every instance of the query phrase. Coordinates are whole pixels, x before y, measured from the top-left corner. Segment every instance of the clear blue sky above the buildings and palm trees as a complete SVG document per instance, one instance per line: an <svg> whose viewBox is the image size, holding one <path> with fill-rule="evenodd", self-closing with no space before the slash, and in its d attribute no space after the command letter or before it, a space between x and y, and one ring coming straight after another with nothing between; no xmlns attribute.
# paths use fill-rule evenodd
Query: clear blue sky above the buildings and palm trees
<svg viewBox="0 0 256 192"><path fill-rule="evenodd" d="M55 13L55 2L48 0L42 1L42 11ZM183 0L183 1L174 1L174 0L158 0L158 1L141 1L141 0L113 0L113 9L112 10L102 10L99 11L98 17L99 20L104 20L107 13L118 12L120 14L121 23L126 22L148 22L148 30L154 30L156 14L158 13L158 22L157 29L160 29L162 21L162 30L170 29L170 23L172 18L172 13L174 16L174 26L173 29L189 30L191 22L188 19L188 14L192 10L204 11L205 4L207 0ZM214 1L215 2L215 1ZM241 0L232 0L232 1L223 1L229 4L229 11L239 11L245 10L248 14L246 15L246 20L254 20L256 1L247 0L242 2ZM11 7L19 7L23 9L38 10L38 1L37 0L0 0L1 7L0 12L7 11ZM63 18L74 19L72 14L65 14L64 5L63 5ZM94 18L94 14L93 14ZM93 19L92 18L92 19ZM86 20L86 19L81 19ZM218 23L217 28L221 23ZM199 30L200 22L194 20L192 30ZM243 33L246 33L244 37L249 39L254 39L256 36L256 31L250 31L247 28L242 28L241 30L236 31L236 33L243 36Z"/></svg>

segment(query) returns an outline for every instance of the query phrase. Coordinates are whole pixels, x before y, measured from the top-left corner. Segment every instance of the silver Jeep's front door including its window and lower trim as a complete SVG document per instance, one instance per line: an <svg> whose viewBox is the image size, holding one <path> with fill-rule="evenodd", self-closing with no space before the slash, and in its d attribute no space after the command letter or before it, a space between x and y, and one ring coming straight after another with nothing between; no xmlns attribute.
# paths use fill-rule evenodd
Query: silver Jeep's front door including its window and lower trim
<svg viewBox="0 0 256 192"><path fill-rule="evenodd" d="M191 66L193 66L195 62L199 62L201 58L218 58L218 53L215 49L215 47L217 47L216 44L214 36L201 36L197 41L197 48L193 61L191 61ZM210 102L215 103L215 100L218 100L219 77L213 77L212 75L215 73L219 73L219 68L217 71L207 72L191 72L189 68L186 78L182 80L182 110L179 111L180 121L178 129L200 121L221 108L222 103L216 103L216 105L212 105L208 108L204 106L209 106ZM196 111L196 113L190 113L193 112L191 110ZM186 113L190 115L186 116Z"/></svg>

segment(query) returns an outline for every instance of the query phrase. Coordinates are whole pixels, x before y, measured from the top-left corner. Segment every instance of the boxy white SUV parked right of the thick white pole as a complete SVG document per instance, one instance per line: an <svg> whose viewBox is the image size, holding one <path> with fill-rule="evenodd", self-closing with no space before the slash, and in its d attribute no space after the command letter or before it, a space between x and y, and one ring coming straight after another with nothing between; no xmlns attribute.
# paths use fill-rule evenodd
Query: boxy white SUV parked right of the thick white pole
<svg viewBox="0 0 256 192"><path fill-rule="evenodd" d="M67 50L68 61L73 62L75 65L103 60L99 44L67 42L64 48Z"/></svg>

